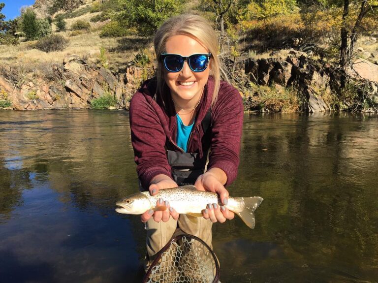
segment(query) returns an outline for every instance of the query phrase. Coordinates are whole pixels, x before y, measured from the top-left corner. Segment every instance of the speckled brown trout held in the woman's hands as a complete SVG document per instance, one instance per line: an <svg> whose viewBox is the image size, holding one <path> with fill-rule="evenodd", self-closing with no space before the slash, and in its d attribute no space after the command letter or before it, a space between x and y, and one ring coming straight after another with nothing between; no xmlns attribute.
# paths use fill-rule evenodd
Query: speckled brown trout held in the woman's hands
<svg viewBox="0 0 378 283"><path fill-rule="evenodd" d="M194 186L182 186L160 189L158 194L153 196L150 195L149 191L134 193L117 202L117 205L121 208L117 208L116 211L123 214L143 214L149 209L154 211L166 210L167 207L164 205L156 206L160 198L164 201L167 200L170 207L173 207L179 214L189 214L195 217L202 217L202 210L209 203L222 205L221 199L215 192L197 190ZM237 214L248 227L253 229L254 211L262 200L259 196L229 197L225 207Z"/></svg>

